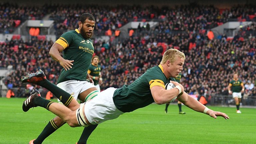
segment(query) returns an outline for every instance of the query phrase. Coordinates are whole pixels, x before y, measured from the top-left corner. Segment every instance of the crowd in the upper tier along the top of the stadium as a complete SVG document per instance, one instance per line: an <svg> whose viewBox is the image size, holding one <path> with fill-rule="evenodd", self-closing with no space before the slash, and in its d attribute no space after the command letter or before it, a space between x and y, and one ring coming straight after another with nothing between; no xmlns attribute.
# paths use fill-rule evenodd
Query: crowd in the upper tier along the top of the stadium
<svg viewBox="0 0 256 144"><path fill-rule="evenodd" d="M229 19L250 20L256 19L255 5L237 5L230 9L219 9L211 5L181 5L175 7L157 7L140 5L63 5L45 4L39 6L19 6L3 3L0 8L0 29L12 28L5 33L13 32L17 27L16 21L21 23L28 19L42 19L49 15L55 21L56 35L73 30L77 26L81 13L92 13L96 18L95 34L105 33L108 29L113 32L130 21L159 21L157 28L169 31L199 31L222 25ZM2 33L2 32L1 32Z"/></svg>

